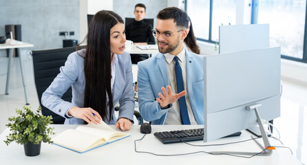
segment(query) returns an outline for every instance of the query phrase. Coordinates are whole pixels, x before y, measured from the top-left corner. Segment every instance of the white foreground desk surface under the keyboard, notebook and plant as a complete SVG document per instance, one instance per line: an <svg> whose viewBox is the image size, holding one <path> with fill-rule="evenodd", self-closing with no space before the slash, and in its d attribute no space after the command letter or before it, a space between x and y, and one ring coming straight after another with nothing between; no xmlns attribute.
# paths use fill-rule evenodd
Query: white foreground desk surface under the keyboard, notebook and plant
<svg viewBox="0 0 307 165"><path fill-rule="evenodd" d="M75 128L78 125L52 125L56 133L61 133L65 129ZM115 126L112 126L115 128ZM152 131L171 131L178 129L201 128L197 126L181 125L154 125ZM183 156L155 156L147 153L136 153L134 151L134 140L140 139L140 126L133 125L130 131L131 136L118 142L101 146L87 153L76 153L60 146L45 144L41 145L41 154L36 157L27 157L24 154L23 146L12 143L9 146L3 142L9 130L6 129L0 135L0 164L301 164L286 148L277 148L270 156L255 156L250 159L241 157L231 157L227 155L209 155L207 153L196 153ZM162 144L154 134L148 134L142 141L137 142L138 151L148 151L158 154L191 153L195 151L256 151L262 149L253 140L240 143L229 144L227 146L199 147L189 146L184 143ZM247 131L242 131L240 137L229 137L206 144L220 144L225 142L237 142L249 139L251 136ZM270 138L271 144L282 146L276 140ZM192 144L204 144L202 141L190 142Z"/></svg>

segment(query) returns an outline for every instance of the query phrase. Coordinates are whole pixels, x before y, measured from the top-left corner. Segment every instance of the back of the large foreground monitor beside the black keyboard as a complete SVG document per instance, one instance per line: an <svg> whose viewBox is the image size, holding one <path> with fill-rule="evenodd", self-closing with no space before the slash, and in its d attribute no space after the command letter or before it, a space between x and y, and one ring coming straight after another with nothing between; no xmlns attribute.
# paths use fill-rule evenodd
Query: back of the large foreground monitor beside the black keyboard
<svg viewBox="0 0 307 165"><path fill-rule="evenodd" d="M204 56L204 142L278 118L279 88L280 47Z"/></svg>

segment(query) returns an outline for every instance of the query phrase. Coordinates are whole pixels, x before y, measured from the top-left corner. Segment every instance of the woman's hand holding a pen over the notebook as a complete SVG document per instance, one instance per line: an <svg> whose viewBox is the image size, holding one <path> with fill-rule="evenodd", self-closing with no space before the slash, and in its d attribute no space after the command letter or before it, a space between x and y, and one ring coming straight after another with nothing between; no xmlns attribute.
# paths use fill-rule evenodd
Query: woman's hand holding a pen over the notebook
<svg viewBox="0 0 307 165"><path fill-rule="evenodd" d="M89 124L92 122L94 124L99 124L100 120L102 120L99 113L92 108L72 107L70 110L68 110L68 115L72 115L75 118L81 118L85 120L85 122L88 122Z"/></svg>

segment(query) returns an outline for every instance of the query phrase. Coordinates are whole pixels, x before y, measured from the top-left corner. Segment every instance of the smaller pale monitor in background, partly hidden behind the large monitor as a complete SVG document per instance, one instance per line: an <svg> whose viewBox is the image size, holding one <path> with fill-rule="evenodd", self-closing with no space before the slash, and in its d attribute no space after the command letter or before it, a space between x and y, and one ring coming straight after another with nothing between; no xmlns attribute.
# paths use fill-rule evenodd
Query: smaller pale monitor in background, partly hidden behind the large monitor
<svg viewBox="0 0 307 165"><path fill-rule="evenodd" d="M259 50L269 47L269 25L222 25L220 26L220 54Z"/></svg>

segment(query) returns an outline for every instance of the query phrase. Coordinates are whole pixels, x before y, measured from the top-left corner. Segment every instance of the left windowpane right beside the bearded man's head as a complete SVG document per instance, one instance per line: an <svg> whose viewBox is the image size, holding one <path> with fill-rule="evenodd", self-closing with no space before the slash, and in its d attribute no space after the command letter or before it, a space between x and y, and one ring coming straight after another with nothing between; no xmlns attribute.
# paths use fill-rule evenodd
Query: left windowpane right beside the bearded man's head
<svg viewBox="0 0 307 165"><path fill-rule="evenodd" d="M189 1L186 11L191 18L195 36L200 39L209 40L210 1Z"/></svg>

